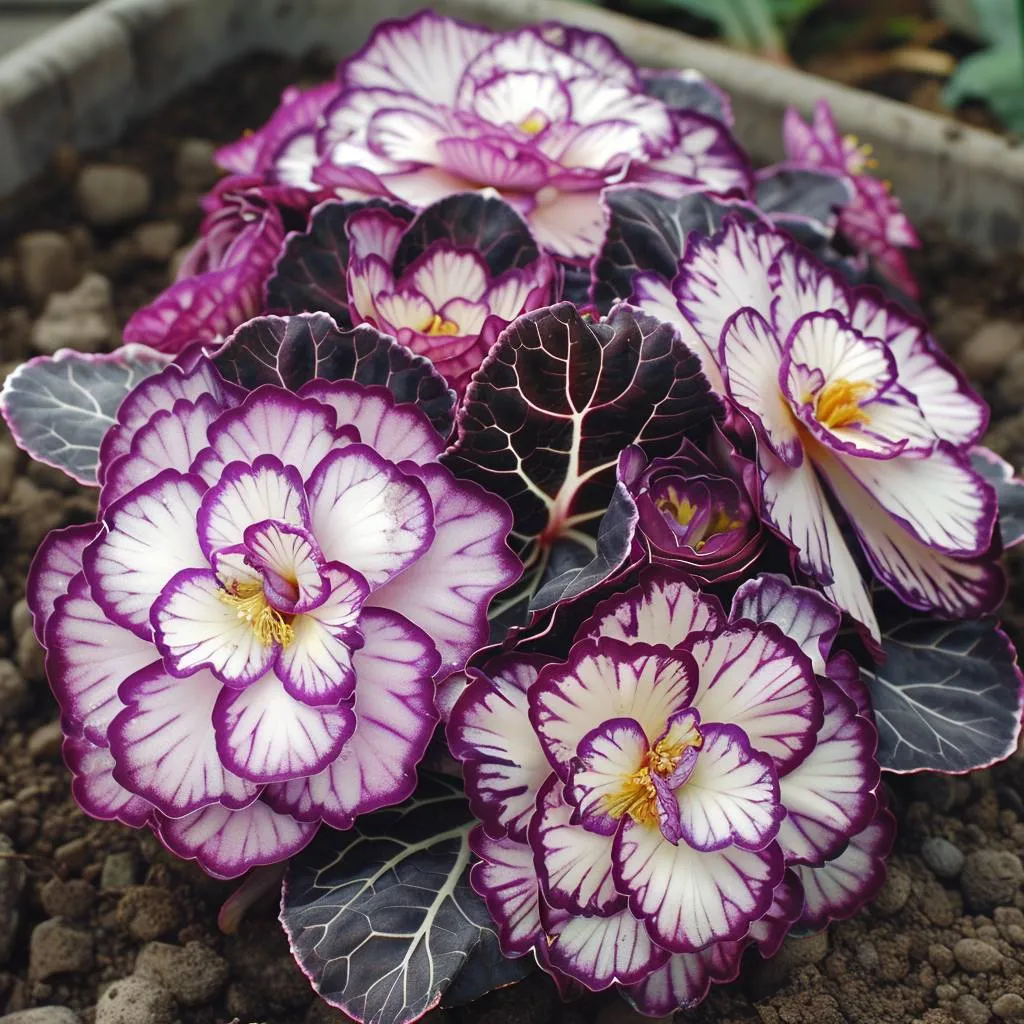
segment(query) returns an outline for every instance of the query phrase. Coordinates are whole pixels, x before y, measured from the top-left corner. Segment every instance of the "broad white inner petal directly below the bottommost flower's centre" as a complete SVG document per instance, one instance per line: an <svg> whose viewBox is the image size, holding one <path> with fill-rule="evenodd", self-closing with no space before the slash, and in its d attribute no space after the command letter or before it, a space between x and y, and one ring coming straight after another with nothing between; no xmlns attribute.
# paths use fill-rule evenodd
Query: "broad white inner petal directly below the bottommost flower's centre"
<svg viewBox="0 0 1024 1024"><path fill-rule="evenodd" d="M615 837L615 886L651 936L673 952L694 952L746 934L771 906L785 869L776 843L712 853L673 846L657 828L627 821Z"/></svg>

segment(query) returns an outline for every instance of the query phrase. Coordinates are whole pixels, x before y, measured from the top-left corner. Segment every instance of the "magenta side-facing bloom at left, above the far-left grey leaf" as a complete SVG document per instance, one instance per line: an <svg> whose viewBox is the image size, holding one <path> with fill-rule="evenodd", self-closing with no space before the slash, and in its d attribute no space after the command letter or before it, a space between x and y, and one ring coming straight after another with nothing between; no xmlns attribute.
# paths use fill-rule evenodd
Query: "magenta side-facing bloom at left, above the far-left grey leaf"
<svg viewBox="0 0 1024 1024"><path fill-rule="evenodd" d="M126 343L177 353L262 312L263 286L285 240L272 190L256 178L224 178L204 208L200 239L177 280L129 318Z"/></svg>

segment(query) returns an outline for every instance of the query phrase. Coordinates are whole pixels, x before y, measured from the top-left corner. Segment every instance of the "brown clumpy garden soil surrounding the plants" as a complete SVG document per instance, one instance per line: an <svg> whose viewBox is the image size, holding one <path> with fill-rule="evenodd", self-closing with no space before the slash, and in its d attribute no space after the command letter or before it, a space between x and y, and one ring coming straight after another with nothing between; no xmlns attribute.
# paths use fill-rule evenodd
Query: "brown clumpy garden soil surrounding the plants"
<svg viewBox="0 0 1024 1024"><path fill-rule="evenodd" d="M0 377L39 352L117 346L165 287L215 180L216 144L256 127L289 83L327 74L254 59L196 89L101 154L65 152L0 203ZM926 226L927 225L923 225ZM930 239L915 259L941 343L992 402L988 442L1024 466L1024 261L987 266ZM0 1020L8 1024L327 1024L345 1020L295 968L271 899L232 935L232 886L148 833L75 806L57 709L24 602L45 532L94 516L94 493L31 465L0 436ZM1024 626L1024 559L1007 606ZM1024 1022L1024 757L961 778L897 779L889 880L827 934L756 953L695 1024ZM44 1009L45 1008L45 1009ZM432 1024L627 1024L608 995L563 1006L537 975Z"/></svg>

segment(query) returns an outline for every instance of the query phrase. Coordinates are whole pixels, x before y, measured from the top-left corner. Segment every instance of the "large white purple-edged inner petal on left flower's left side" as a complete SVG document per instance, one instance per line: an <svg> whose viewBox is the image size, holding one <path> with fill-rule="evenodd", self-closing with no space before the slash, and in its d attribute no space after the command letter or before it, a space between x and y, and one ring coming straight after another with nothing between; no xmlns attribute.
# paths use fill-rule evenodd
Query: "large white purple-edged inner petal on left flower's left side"
<svg viewBox="0 0 1024 1024"><path fill-rule="evenodd" d="M85 549L82 564L96 600L142 639L152 635L150 609L171 577L207 564L196 537L205 489L198 477L165 470L112 505L104 531Z"/></svg>

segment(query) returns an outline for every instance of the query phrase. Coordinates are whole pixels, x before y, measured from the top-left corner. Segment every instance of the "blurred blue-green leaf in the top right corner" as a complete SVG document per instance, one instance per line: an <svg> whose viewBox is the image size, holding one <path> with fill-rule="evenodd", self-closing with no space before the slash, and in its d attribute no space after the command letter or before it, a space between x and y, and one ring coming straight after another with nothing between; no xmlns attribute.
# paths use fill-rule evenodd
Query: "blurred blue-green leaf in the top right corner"
<svg viewBox="0 0 1024 1024"><path fill-rule="evenodd" d="M1011 131L1024 133L1024 0L974 0L987 49L967 57L942 93L956 108L982 99Z"/></svg>

